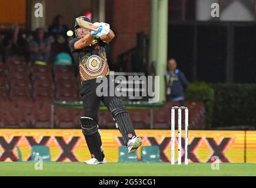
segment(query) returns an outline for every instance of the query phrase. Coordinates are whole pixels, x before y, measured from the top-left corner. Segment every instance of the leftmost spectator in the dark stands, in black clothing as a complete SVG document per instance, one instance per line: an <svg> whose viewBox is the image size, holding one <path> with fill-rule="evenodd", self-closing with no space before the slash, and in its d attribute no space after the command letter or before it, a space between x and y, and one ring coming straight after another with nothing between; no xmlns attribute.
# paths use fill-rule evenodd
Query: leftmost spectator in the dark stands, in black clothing
<svg viewBox="0 0 256 188"><path fill-rule="evenodd" d="M18 25L12 25L11 29L11 33L4 39L5 59L13 55L22 55L27 58L28 52L26 49L28 49L28 42L24 37L25 35L19 35Z"/></svg>

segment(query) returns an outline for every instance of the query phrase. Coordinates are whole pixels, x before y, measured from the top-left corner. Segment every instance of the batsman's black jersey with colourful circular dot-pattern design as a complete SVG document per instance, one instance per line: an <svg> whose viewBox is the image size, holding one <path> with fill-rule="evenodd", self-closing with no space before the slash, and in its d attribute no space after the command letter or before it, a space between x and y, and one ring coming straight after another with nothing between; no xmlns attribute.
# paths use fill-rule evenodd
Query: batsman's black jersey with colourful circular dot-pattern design
<svg viewBox="0 0 256 188"><path fill-rule="evenodd" d="M104 46L107 43L101 39L94 39L91 45L84 49L75 49L75 42L79 38L74 38L69 42L72 56L79 66L80 80L91 80L109 75L109 67Z"/></svg>

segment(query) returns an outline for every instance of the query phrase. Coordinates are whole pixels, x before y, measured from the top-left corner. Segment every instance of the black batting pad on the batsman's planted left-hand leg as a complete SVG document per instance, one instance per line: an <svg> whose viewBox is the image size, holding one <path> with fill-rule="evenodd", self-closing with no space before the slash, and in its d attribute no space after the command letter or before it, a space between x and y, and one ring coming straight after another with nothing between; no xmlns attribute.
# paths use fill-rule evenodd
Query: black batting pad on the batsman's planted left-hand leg
<svg viewBox="0 0 256 188"><path fill-rule="evenodd" d="M82 133L85 136L91 156L95 157L98 161L102 161L104 159L104 154L97 123L90 117L81 117L80 121Z"/></svg>

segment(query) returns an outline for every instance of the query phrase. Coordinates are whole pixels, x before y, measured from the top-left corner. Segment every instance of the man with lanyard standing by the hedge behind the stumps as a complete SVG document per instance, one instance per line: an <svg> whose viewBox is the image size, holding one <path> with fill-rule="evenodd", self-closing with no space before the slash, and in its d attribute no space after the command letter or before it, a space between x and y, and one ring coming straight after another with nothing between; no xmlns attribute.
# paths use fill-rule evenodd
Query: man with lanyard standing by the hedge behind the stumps
<svg viewBox="0 0 256 188"><path fill-rule="evenodd" d="M175 59L169 59L168 71L165 73L164 78L167 101L179 102L180 106L184 106L188 81L184 73L177 69Z"/></svg>

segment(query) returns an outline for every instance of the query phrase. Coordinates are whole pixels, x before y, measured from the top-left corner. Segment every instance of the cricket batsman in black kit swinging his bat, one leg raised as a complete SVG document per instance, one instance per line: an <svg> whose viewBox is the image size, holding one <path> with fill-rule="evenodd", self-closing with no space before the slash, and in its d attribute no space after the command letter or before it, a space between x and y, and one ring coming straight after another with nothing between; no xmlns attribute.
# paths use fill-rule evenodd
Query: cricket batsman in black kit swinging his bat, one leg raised
<svg viewBox="0 0 256 188"><path fill-rule="evenodd" d="M80 16L79 19L91 22L87 17ZM109 24L95 22L97 31L89 31L79 26L75 21L75 36L69 42L72 56L79 66L79 74L82 84L80 94L84 105L84 117L80 118L82 133L87 142L91 159L85 161L87 164L107 163L102 148L101 135L98 127L98 111L101 101L107 106L115 120L116 126L122 134L128 152L135 152L142 145L142 140L135 134L134 126L127 109L117 96L98 96L97 78L106 76L109 80L109 68L104 46L115 37ZM114 81L114 80L112 80ZM105 89L109 90L109 86ZM109 93L109 92L108 92Z"/></svg>

